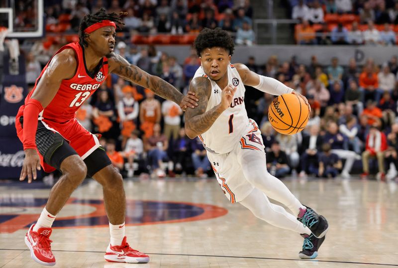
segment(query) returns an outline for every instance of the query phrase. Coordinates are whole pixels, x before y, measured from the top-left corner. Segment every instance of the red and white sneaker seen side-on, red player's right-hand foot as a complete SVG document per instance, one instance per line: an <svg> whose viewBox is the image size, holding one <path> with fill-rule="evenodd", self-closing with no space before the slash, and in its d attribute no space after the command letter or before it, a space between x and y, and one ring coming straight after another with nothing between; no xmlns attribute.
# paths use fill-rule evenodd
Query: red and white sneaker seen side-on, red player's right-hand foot
<svg viewBox="0 0 398 268"><path fill-rule="evenodd" d="M133 250L127 243L127 237L123 238L120 246L109 246L106 248L105 256L108 262L146 264L149 262L149 256L139 251Z"/></svg>

